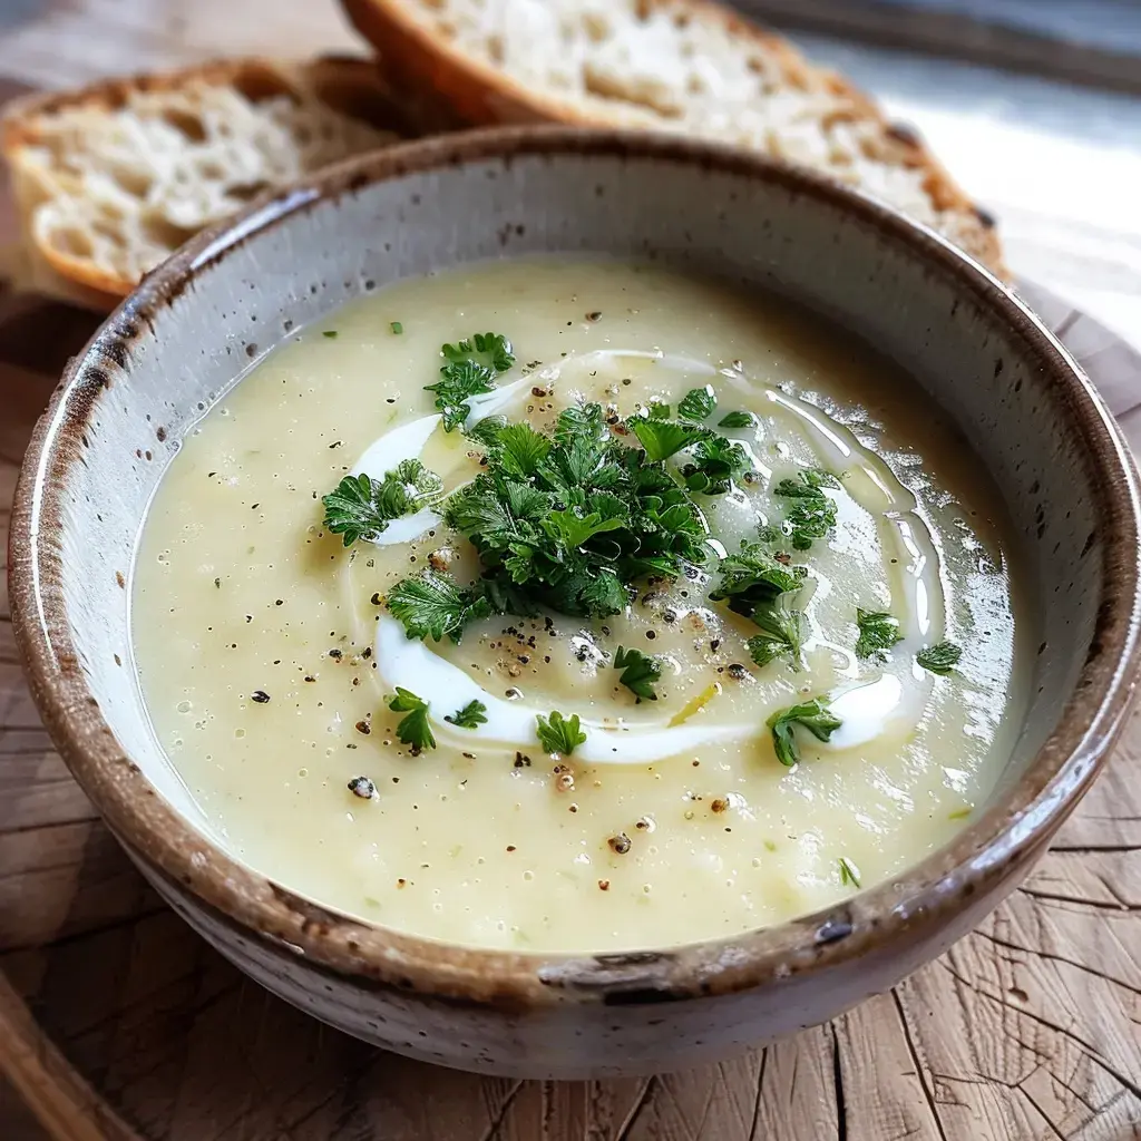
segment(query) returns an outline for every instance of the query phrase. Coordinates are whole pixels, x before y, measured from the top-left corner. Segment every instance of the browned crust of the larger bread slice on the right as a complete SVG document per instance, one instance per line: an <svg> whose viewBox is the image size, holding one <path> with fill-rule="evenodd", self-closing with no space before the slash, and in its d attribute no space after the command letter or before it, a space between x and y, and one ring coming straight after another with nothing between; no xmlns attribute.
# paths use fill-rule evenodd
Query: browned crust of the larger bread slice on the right
<svg viewBox="0 0 1141 1141"><path fill-rule="evenodd" d="M677 0L645 0L677 7ZM697 19L721 25L728 33L763 47L782 65L788 82L808 87L809 80L841 97L852 116L879 128L884 155L900 167L923 173L922 185L939 211L962 218L956 240L977 260L1003 278L1003 261L994 222L955 183L944 165L909 128L891 124L877 104L842 76L816 67L782 37L767 32L714 0L682 0ZM588 106L570 97L528 90L503 70L475 58L434 34L411 15L402 0L341 0L355 27L382 54L386 75L400 98L408 98L421 129L496 123L563 122L569 126L607 126Z"/></svg>

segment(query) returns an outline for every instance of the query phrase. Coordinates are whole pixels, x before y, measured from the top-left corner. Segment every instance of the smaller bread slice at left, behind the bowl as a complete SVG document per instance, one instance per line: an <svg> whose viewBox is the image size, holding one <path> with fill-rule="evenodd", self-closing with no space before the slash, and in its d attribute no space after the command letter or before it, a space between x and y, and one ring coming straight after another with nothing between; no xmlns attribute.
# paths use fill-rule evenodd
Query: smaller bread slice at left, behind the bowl
<svg viewBox="0 0 1141 1141"><path fill-rule="evenodd" d="M106 308L252 196L398 138L364 59L234 59L31 96L0 118L33 283Z"/></svg>

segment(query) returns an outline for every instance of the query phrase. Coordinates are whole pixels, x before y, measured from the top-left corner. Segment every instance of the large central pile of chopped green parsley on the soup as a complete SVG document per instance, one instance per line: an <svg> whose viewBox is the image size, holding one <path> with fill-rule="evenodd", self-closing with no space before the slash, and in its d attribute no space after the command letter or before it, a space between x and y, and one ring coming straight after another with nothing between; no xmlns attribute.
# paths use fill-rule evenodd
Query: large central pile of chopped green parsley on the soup
<svg viewBox="0 0 1141 1141"><path fill-rule="evenodd" d="M467 591L450 584L435 623L419 614L419 599L398 613L393 600L406 591L394 589L389 607L410 636L427 628L456 637L469 607L476 617L539 607L606 617L626 606L636 580L674 578L706 560L693 500L662 463L610 436L599 405L565 408L552 436L492 418L469 436L486 462L444 515L475 545L483 575ZM438 582L430 593L442 593Z"/></svg>

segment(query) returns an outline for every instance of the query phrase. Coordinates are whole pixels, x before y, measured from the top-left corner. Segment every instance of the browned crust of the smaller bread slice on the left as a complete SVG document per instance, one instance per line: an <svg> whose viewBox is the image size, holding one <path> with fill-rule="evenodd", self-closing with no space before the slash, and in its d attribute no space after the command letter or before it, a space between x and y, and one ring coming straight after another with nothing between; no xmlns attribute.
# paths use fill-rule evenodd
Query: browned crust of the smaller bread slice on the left
<svg viewBox="0 0 1141 1141"><path fill-rule="evenodd" d="M321 57L307 63L256 57L213 60L178 71L110 79L73 91L15 99L0 114L0 155L11 171L33 284L99 309L113 307L138 284L135 278L107 272L88 258L59 249L40 232L38 208L49 201L50 195L31 164L24 161L24 155L27 148L41 144L44 124L70 111L113 114L127 106L132 95L175 92L189 84L233 88L251 103L280 96L315 99L378 130L400 135L411 131L377 65L349 56Z"/></svg>

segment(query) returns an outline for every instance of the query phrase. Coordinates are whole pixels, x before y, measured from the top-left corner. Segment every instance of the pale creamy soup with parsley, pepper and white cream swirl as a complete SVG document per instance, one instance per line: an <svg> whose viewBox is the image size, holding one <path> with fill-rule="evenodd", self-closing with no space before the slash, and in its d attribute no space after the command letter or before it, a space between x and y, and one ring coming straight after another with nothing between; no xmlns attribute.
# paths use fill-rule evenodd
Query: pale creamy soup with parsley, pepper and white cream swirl
<svg viewBox="0 0 1141 1141"><path fill-rule="evenodd" d="M733 934L994 786L1030 633L980 472L772 299L569 258L408 281L185 440L143 693L220 842L325 905L527 950Z"/></svg>

